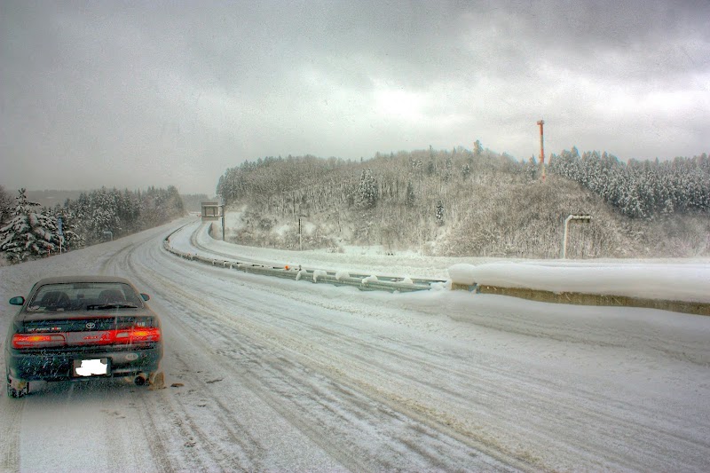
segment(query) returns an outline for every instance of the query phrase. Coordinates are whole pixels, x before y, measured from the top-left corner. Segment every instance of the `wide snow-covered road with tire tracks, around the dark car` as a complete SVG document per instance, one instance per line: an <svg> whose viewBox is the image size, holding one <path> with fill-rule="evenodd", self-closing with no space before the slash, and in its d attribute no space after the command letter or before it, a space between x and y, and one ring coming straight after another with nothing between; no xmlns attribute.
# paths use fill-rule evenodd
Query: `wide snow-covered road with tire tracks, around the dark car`
<svg viewBox="0 0 710 473"><path fill-rule="evenodd" d="M184 223L0 268L3 337L41 277L132 280L168 386L4 397L0 469L710 470L708 317L250 275L170 255Z"/></svg>

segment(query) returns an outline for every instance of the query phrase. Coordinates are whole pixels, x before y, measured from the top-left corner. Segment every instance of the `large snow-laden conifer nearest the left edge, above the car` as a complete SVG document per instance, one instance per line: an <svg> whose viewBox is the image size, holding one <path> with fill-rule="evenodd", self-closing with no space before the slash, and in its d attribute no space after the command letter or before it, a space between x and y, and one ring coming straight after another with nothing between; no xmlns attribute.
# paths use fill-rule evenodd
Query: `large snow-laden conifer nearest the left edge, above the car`
<svg viewBox="0 0 710 473"><path fill-rule="evenodd" d="M47 256L59 249L57 221L39 204L28 201L26 190L20 189L7 224L0 228L0 250L12 263Z"/></svg>

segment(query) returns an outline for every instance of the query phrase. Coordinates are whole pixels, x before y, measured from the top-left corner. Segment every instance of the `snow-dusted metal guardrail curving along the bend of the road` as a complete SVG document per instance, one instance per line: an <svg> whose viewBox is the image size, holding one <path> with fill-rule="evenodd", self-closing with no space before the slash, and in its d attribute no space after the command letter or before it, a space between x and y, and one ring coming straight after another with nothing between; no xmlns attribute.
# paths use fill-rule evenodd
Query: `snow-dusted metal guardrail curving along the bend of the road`
<svg viewBox="0 0 710 473"><path fill-rule="evenodd" d="M239 261L232 257L218 258L211 256L203 256L200 254L185 253L170 246L170 237L182 230L186 225L177 228L175 232L170 233L163 240L163 248L175 256L179 256L189 261L197 261L202 264L209 264L222 268L228 268L251 274L261 274L264 276L272 276L276 278L285 278L288 280L303 280L312 283L326 283L334 286L351 286L364 291L388 291L388 292L414 292L426 291L432 288L432 284L444 284L445 280L425 280L425 279L410 279L398 278L395 276L374 276L371 274L348 273L343 275L340 272L331 272L319 269L303 269L294 268L288 265L272 265L257 262ZM194 233L190 237L191 242L196 248L201 248L194 238ZM217 253L217 256L225 256Z"/></svg>

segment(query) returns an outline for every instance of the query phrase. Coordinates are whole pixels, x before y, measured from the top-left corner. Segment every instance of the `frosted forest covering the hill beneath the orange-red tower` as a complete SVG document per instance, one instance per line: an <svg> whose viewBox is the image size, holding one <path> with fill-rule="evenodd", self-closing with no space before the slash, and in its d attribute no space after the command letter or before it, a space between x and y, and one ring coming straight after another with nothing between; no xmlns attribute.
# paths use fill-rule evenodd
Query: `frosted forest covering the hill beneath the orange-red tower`
<svg viewBox="0 0 710 473"><path fill-rule="evenodd" d="M710 255L707 154L622 162L572 147L549 157L544 178L534 158L479 141L360 161L264 157L226 169L217 194L241 211L227 237L245 245L556 258L565 217L583 213L592 221L571 226L569 257Z"/></svg>

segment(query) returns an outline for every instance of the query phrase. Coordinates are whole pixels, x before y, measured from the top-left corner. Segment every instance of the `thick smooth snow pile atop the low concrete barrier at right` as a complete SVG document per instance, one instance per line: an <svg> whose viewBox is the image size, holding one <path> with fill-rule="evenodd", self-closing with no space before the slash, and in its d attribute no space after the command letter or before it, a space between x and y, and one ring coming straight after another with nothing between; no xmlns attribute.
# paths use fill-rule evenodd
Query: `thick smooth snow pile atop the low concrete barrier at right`
<svg viewBox="0 0 710 473"><path fill-rule="evenodd" d="M448 272L455 284L710 303L707 264L454 264Z"/></svg>

